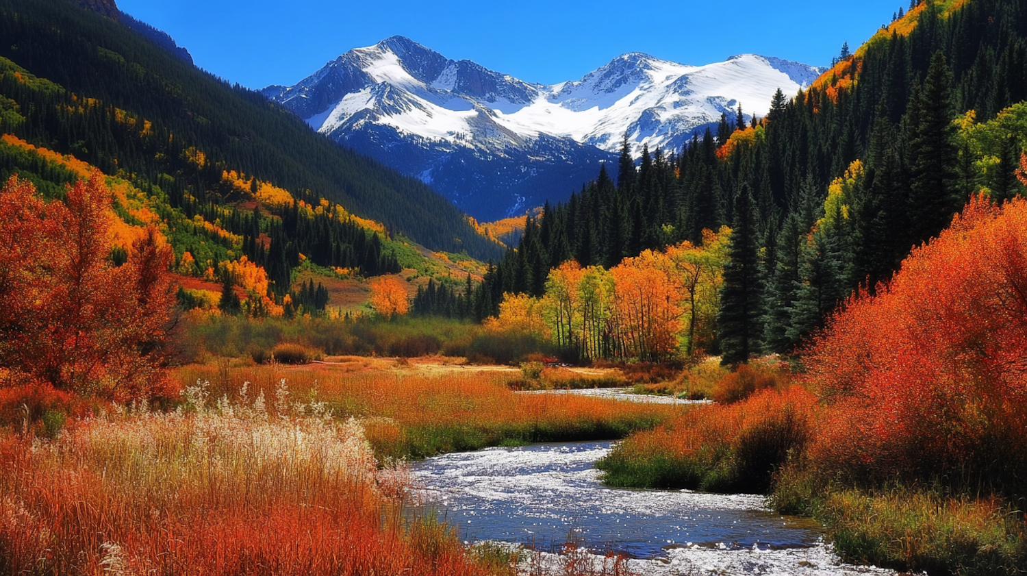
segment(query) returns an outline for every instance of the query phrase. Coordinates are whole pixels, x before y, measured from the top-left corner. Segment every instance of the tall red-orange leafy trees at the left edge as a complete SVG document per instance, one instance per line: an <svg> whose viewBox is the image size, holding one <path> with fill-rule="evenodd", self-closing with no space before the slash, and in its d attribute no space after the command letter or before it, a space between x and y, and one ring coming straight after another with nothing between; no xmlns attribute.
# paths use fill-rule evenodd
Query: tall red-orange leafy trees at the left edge
<svg viewBox="0 0 1027 576"><path fill-rule="evenodd" d="M110 192L99 171L44 202L12 177L0 190L0 363L68 390L113 397L158 391L174 295L173 260L153 227L120 267Z"/></svg>

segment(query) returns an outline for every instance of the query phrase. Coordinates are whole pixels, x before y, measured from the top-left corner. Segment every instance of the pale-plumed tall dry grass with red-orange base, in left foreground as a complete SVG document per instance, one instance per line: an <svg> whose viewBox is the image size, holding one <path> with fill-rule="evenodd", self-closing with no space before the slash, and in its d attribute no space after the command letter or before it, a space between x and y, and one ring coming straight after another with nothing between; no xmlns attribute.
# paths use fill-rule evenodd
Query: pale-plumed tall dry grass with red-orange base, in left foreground
<svg viewBox="0 0 1027 576"><path fill-rule="evenodd" d="M403 471L354 420L284 389L207 393L0 437L0 572L486 573L446 527L403 520Z"/></svg>

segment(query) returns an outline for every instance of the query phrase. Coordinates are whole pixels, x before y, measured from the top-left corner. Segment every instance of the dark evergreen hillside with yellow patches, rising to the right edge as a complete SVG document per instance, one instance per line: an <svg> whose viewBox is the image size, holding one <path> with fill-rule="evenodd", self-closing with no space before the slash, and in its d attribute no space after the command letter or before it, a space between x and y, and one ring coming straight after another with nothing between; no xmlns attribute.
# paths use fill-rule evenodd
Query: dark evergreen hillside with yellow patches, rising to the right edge
<svg viewBox="0 0 1027 576"><path fill-rule="evenodd" d="M696 344L726 361L788 352L855 289L873 293L887 280L972 194L1023 194L1015 171L1027 148L1024 5L914 0L899 13L855 53L843 49L809 89L778 90L765 118L724 118L681 152L646 151L637 170L625 147L616 182L602 166L566 204L529 220L519 249L486 275L476 313L501 315L504 294L551 297L563 289L550 270L568 260L638 267L636 257L654 254L646 251L696 248L703 230L727 226L721 275L710 280L715 332ZM677 285L669 298L686 303L675 321L694 325L695 286L662 277ZM575 293L604 298L584 284ZM608 298L616 319L617 293ZM581 323L583 312L572 312ZM595 353L630 357L616 344L622 322L610 325ZM679 339L695 350L692 336Z"/></svg>

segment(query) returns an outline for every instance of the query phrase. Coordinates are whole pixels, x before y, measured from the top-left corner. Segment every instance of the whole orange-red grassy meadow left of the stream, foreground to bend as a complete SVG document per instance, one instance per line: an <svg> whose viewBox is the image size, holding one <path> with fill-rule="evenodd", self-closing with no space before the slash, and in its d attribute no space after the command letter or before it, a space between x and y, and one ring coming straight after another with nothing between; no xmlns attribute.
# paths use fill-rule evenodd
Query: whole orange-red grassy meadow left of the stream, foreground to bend
<svg viewBox="0 0 1027 576"><path fill-rule="evenodd" d="M680 411L519 394L522 371L453 358L331 359L187 366L181 396L150 405L5 388L0 573L512 574L527 552L404 514L407 460L622 437ZM625 573L583 558L561 570Z"/></svg>

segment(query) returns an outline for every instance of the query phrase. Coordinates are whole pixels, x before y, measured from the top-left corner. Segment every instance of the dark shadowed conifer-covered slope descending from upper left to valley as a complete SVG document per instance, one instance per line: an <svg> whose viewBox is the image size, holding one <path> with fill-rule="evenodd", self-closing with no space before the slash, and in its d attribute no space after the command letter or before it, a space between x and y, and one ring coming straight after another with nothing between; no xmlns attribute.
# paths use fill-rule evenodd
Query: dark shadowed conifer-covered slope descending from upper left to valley
<svg viewBox="0 0 1027 576"><path fill-rule="evenodd" d="M0 56L110 107L109 125L87 142L82 126L55 123L47 118L52 109L32 109L38 122L5 128L30 142L75 154L107 174L127 170L152 182L166 174L201 201L222 198L222 171L234 169L337 202L432 249L466 249L483 259L499 254L421 182L341 149L260 94L196 70L117 22L63 0L2 0L0 37ZM152 122L158 137L124 136L116 110ZM189 168L184 154L190 147L208 161Z"/></svg>

